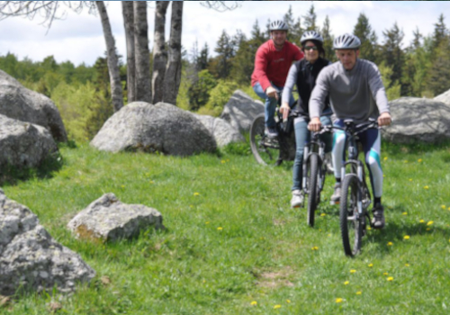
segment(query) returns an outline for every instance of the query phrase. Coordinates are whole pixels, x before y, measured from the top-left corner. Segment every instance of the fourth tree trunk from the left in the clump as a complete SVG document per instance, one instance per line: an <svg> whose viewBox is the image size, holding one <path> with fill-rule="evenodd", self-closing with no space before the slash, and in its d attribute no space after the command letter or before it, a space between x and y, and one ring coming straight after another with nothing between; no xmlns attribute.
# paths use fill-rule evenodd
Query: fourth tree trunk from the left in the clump
<svg viewBox="0 0 450 315"><path fill-rule="evenodd" d="M162 102L164 95L164 76L166 73L167 52L164 29L166 25L166 11L170 1L157 1L155 10L155 45L153 47L153 103Z"/></svg>

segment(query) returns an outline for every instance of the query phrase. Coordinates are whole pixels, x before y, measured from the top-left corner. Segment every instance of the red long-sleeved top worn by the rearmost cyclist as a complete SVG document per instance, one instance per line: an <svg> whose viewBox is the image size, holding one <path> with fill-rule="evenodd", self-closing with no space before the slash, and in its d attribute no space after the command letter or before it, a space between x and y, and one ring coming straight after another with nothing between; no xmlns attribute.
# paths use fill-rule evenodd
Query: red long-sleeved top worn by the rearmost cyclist
<svg viewBox="0 0 450 315"><path fill-rule="evenodd" d="M252 86L259 82L264 91L271 82L280 87L284 86L293 61L301 58L303 58L302 50L289 41L284 42L283 49L276 50L274 41L267 40L257 49Z"/></svg>

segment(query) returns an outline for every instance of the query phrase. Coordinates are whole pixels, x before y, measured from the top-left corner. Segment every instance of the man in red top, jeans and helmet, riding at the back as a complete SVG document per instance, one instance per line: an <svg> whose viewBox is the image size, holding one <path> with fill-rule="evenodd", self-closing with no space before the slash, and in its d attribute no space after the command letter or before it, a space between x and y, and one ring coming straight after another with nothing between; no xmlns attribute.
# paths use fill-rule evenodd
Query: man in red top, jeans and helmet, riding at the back
<svg viewBox="0 0 450 315"><path fill-rule="evenodd" d="M275 129L275 108L278 92L281 93L286 76L293 61L303 58L302 50L286 40L288 27L283 21L270 23L271 40L267 40L257 49L255 69L252 74L252 86L255 93L266 100L266 134L277 137ZM294 105L293 95L290 105Z"/></svg>

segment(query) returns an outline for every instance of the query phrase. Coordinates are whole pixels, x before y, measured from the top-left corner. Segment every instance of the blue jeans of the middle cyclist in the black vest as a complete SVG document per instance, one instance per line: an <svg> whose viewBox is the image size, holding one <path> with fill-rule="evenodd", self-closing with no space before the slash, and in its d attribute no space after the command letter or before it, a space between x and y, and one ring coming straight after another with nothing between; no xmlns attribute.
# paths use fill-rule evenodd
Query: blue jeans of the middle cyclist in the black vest
<svg viewBox="0 0 450 315"><path fill-rule="evenodd" d="M305 144L311 141L311 131L308 130L309 119L302 117L296 118L294 122L295 129L295 159L293 160L293 189L302 190L302 178L303 178L303 151ZM323 126L331 124L330 116L321 116L320 122ZM324 133L320 135L320 139L325 142L325 152L331 151L332 137L330 133Z"/></svg>

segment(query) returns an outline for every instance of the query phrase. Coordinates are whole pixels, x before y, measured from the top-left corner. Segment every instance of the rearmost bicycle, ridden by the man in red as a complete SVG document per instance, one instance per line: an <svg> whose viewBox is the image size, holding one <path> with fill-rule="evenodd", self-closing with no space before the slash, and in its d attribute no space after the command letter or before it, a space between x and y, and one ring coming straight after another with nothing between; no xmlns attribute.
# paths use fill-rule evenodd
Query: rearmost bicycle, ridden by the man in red
<svg viewBox="0 0 450 315"><path fill-rule="evenodd" d="M293 120L295 113L289 112L289 118L283 121L280 112L281 97L275 109L275 128L278 137L270 138L266 135L265 113L257 115L250 127L250 148L257 162L266 166L279 166L283 161L293 161L295 157L295 134Z"/></svg>

